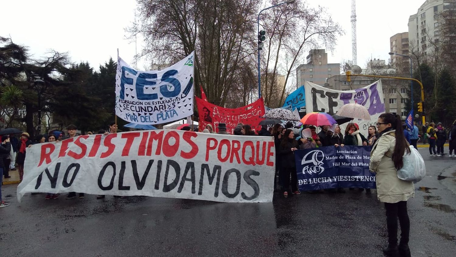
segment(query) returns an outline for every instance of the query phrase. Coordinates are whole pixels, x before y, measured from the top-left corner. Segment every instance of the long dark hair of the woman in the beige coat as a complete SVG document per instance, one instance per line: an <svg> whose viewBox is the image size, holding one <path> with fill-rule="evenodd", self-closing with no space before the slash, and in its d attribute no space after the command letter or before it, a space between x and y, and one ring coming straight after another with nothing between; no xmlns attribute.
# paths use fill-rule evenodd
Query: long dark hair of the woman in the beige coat
<svg viewBox="0 0 456 257"><path fill-rule="evenodd" d="M399 170L404 166L403 157L405 150L407 150L407 153L410 152L410 147L405 140L402 130L402 120L399 115L392 113L383 113L378 118L382 119L386 124L390 123L392 129L396 130L396 145L394 146L394 152L391 158L393 159L394 167Z"/></svg>

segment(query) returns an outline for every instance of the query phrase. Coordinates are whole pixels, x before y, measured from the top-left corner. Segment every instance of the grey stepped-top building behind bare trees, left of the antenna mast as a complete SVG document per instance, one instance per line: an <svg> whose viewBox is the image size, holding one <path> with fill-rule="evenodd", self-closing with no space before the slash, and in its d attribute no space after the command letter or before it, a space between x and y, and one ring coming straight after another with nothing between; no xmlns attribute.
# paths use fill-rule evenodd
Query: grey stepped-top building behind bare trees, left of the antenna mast
<svg viewBox="0 0 456 257"><path fill-rule="evenodd" d="M325 49L312 49L306 62L296 68L296 88L303 85L304 81L324 86L326 79L340 74L340 63L328 63Z"/></svg>

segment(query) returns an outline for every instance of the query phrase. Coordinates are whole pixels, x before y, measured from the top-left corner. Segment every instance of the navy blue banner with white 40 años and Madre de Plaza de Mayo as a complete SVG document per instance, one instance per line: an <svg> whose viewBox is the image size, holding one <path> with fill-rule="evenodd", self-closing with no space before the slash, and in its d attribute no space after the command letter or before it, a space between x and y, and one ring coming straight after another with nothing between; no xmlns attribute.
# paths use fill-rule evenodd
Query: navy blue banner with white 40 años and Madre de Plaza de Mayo
<svg viewBox="0 0 456 257"><path fill-rule="evenodd" d="M376 188L369 171L371 147L318 147L295 151L301 190Z"/></svg>

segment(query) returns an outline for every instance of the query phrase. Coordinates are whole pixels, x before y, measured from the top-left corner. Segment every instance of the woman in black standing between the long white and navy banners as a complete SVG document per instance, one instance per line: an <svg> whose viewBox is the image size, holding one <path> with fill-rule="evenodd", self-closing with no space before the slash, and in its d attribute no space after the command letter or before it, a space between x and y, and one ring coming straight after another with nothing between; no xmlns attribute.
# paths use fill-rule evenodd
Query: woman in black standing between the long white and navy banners
<svg viewBox="0 0 456 257"><path fill-rule="evenodd" d="M288 197L290 190L290 175L291 175L291 192L293 194L301 194L298 190L298 176L296 174L295 150L298 144L291 129L287 129L282 136L280 142L280 181L284 197Z"/></svg>

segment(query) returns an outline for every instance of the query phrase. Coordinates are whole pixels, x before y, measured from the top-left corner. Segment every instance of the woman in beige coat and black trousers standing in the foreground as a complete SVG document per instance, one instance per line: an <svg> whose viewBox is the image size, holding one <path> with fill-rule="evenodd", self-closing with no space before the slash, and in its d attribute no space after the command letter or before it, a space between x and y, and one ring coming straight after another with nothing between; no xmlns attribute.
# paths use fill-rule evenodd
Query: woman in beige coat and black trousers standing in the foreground
<svg viewBox="0 0 456 257"><path fill-rule="evenodd" d="M400 180L397 171L404 166L403 156L410 152L399 115L384 113L378 117L378 139L373 143L369 169L376 173L377 197L385 203L389 246L383 249L387 256L410 256L410 220L407 200L415 196L413 182ZM396 133L396 131L399 131ZM401 229L397 244L398 218Z"/></svg>

